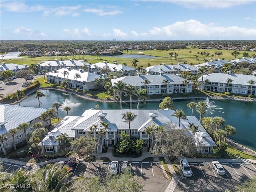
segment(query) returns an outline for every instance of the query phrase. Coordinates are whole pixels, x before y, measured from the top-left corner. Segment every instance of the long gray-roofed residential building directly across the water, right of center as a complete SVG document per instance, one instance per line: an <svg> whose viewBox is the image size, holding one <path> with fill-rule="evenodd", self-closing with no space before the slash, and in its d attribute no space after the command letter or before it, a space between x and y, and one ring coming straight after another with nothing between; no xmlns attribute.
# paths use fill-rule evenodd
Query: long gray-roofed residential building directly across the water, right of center
<svg viewBox="0 0 256 192"><path fill-rule="evenodd" d="M146 79L150 84L144 84ZM164 83L165 80L168 80L167 84ZM148 95L192 92L193 82L188 81L188 84L185 85L183 83L184 80L184 78L174 74L165 75L162 73L160 75L140 75L140 73L138 73L137 76L124 76L112 79L111 83L112 86L115 86L116 82L122 81L127 85L131 84L138 89L146 89ZM122 94L125 95L126 93L123 92Z"/></svg>

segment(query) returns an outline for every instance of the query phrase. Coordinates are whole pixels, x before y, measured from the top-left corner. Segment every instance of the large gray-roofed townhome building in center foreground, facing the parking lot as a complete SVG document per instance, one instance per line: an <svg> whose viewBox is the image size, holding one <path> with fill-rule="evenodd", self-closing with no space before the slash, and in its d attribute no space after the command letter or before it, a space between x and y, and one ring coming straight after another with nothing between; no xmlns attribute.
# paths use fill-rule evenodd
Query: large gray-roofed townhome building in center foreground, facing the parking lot
<svg viewBox="0 0 256 192"><path fill-rule="evenodd" d="M66 133L71 139L80 137L82 135L92 134L94 138L98 139L97 152L101 153L103 144L107 146L116 144L120 139L120 133L129 133L129 127L122 119L122 114L125 112L132 112L137 117L130 123L130 135L144 140L147 146L150 143L154 143L154 136L145 133L145 129L148 126L165 126L169 122L173 122L178 128L178 118L172 116L174 110L85 110L81 116L66 116L63 120L43 139L43 145L47 148L47 152L57 152L60 150L60 146L56 140L57 136ZM104 136L99 135L99 130L90 131L90 127L93 125L100 126L100 122L108 123L108 130ZM199 153L210 153L212 148L216 146L212 138L200 124L195 116L187 116L186 119L182 119L180 122L180 128L188 130L188 123L194 123L195 126L199 126L194 136L195 144L198 146ZM154 135L154 134L153 134ZM41 146L41 143L39 144Z"/></svg>

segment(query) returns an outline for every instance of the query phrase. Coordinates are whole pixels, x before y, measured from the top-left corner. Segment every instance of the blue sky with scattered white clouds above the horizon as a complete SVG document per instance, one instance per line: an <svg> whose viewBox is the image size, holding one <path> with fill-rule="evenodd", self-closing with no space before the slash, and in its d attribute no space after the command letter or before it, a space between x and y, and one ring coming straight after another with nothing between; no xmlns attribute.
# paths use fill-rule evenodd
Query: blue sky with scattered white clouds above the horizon
<svg viewBox="0 0 256 192"><path fill-rule="evenodd" d="M255 0L1 0L1 40L256 40Z"/></svg>

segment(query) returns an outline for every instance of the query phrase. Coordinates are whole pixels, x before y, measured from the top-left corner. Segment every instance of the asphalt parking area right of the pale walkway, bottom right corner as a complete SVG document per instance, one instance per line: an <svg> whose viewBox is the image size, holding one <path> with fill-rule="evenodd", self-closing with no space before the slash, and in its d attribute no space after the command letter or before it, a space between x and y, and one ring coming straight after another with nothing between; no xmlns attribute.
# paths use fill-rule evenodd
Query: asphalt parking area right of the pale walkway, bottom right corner
<svg viewBox="0 0 256 192"><path fill-rule="evenodd" d="M256 176L256 166L251 163L222 163L225 175L218 175L211 162L190 162L192 177L184 177L174 192L224 192Z"/></svg>

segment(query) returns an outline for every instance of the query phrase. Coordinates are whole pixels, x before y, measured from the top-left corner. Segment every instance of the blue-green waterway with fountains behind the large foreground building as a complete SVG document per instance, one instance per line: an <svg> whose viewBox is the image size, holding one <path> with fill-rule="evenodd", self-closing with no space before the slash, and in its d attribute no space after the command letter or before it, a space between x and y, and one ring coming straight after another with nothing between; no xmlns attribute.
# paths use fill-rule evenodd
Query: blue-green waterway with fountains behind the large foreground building
<svg viewBox="0 0 256 192"><path fill-rule="evenodd" d="M42 102L42 108L50 108L52 103L60 102L72 102L73 104L80 103L80 106L72 108L69 112L69 115L81 115L84 110L94 108L95 105L99 105L100 109L119 109L120 103L105 103L105 102L96 102L91 100L85 100L78 98L74 95L66 94L58 90L42 90L46 97L40 98ZM38 107L38 100L34 97L35 94L30 95L26 100L23 100L20 105ZM174 107L176 109L182 109L186 115L191 115L190 108L187 107L189 102L199 102L201 99L186 99L186 100L174 100ZM146 104L141 103L140 109L158 109L158 105L161 101L158 102L147 102ZM256 102L245 102L245 101L236 101L236 100L214 100L216 105L220 106L223 109L220 111L206 112L203 117L206 116L221 116L226 120L227 125L234 126L236 128L236 134L234 136L229 136L234 142L242 144L248 148L256 150ZM137 103L133 103L132 107L136 108ZM129 103L123 104L124 109L129 108ZM66 115L66 112L59 111L59 116L63 118ZM199 118L199 114L194 110L194 114Z"/></svg>

